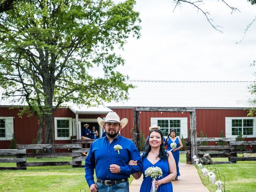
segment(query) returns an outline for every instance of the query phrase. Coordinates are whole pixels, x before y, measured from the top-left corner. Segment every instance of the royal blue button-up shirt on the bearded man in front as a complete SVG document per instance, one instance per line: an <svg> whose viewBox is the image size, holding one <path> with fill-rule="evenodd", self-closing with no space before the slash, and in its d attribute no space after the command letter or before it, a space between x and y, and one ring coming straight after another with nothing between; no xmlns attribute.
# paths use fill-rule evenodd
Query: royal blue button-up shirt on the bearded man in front
<svg viewBox="0 0 256 192"><path fill-rule="evenodd" d="M122 146L118 154L114 150L114 145ZM128 165L130 160L138 161L136 166ZM109 167L111 164L120 166L120 173L111 173ZM85 178L89 186L94 184L94 168L96 177L100 180L122 180L130 177L130 174L140 172L142 170L142 160L134 143L118 135L117 138L110 143L108 137L95 140L85 159Z"/></svg>

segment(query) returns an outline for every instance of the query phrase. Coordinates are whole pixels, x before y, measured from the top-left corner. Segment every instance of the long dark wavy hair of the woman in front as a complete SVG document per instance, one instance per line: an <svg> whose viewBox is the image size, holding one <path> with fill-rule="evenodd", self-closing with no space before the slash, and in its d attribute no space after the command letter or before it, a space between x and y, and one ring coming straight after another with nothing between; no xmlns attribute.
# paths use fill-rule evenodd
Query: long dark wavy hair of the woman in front
<svg viewBox="0 0 256 192"><path fill-rule="evenodd" d="M150 134L152 132L158 132L160 134L161 140L162 140L162 143L160 144L158 158L167 160L169 155L167 154L167 152L165 152L164 142L163 142L164 136L163 136L162 132L158 129L154 129L154 130L149 132L148 139L146 140L146 143L145 143L145 146L144 146L144 153L142 155L142 159L144 159L146 156L148 156L148 153L151 151L151 146L149 144L149 139L150 139Z"/></svg>

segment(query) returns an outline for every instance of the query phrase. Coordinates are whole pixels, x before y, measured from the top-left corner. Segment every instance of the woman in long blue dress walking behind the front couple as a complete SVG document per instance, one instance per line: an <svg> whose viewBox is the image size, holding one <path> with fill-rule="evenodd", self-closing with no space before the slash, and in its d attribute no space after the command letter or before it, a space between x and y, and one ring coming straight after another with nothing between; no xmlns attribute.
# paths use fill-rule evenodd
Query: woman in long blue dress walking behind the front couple
<svg viewBox="0 0 256 192"><path fill-rule="evenodd" d="M177 176L175 177L175 179L177 180L178 176L180 176L180 170L179 170L180 149L183 148L183 145L180 138L177 137L176 129L171 129L170 134L168 134L167 136L166 142L167 142L168 150L172 149L170 146L172 142L175 142L177 144L176 148L171 151L176 163Z"/></svg>

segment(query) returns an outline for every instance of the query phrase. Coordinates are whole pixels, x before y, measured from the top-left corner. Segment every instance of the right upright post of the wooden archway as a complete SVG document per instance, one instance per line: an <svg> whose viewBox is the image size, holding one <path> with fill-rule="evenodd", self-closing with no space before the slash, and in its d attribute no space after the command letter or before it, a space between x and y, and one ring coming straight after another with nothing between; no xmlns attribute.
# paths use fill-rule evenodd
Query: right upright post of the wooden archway
<svg viewBox="0 0 256 192"><path fill-rule="evenodd" d="M196 110L190 112L190 132L191 132L191 160L192 164L194 164L194 159L192 158L194 155L197 156L197 133L196 133Z"/></svg>

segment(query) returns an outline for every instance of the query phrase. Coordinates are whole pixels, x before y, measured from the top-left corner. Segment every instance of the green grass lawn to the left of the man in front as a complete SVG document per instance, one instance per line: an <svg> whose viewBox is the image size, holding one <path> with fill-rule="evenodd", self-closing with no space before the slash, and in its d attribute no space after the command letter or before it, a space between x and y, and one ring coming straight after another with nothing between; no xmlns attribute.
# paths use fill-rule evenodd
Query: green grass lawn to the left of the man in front
<svg viewBox="0 0 256 192"><path fill-rule="evenodd" d="M72 158L27 158L27 162L43 161L72 161ZM16 166L16 163L0 163L0 166ZM129 183L132 180L131 176ZM0 171L0 192L80 192L82 188L89 191L84 168L46 166Z"/></svg>

